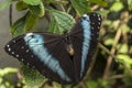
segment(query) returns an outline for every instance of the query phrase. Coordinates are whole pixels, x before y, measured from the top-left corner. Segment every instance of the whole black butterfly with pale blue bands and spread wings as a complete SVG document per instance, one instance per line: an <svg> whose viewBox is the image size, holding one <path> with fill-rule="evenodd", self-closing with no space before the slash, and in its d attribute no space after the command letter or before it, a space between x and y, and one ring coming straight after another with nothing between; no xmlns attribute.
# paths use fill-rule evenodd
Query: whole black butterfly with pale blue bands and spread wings
<svg viewBox="0 0 132 88"><path fill-rule="evenodd" d="M80 81L95 53L100 25L100 14L91 12L84 14L70 32L26 33L12 38L4 50L50 80L64 85Z"/></svg>

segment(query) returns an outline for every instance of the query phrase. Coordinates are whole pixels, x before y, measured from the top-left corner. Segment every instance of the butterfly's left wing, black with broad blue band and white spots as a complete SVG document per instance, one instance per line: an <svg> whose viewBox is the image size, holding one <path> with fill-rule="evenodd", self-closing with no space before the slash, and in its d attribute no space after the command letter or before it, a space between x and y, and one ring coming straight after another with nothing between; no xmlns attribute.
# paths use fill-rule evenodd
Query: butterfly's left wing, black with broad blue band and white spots
<svg viewBox="0 0 132 88"><path fill-rule="evenodd" d="M74 66L63 36L51 33L28 33L10 41L4 50L23 64L61 84L75 80Z"/></svg>

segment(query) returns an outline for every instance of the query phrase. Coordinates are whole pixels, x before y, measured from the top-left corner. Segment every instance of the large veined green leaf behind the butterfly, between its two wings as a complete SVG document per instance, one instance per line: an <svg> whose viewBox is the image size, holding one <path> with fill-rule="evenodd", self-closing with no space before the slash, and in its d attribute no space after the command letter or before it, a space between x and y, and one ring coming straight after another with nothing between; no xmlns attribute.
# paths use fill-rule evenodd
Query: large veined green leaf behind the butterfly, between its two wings
<svg viewBox="0 0 132 88"><path fill-rule="evenodd" d="M69 31L73 28L75 20L72 15L56 10L48 11L52 14L52 20L48 29L50 32L62 34L64 31Z"/></svg>

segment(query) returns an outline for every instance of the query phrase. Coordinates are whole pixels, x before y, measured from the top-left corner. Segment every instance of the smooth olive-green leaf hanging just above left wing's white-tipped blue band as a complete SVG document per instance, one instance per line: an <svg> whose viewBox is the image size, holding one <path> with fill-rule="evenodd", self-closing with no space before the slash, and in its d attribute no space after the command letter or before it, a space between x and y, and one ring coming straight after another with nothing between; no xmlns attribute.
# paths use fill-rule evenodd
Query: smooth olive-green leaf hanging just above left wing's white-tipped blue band
<svg viewBox="0 0 132 88"><path fill-rule="evenodd" d="M37 21L38 21L38 16L37 15L29 13L26 15L24 31L29 32L29 31L33 30L35 28L35 24L36 24Z"/></svg>

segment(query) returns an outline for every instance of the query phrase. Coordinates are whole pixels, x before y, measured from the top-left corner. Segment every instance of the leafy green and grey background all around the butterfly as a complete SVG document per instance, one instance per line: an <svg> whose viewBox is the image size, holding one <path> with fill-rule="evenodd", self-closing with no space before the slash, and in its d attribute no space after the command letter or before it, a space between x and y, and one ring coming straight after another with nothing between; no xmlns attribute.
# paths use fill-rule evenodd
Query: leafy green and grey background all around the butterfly
<svg viewBox="0 0 132 88"><path fill-rule="evenodd" d="M3 50L12 36L32 31L61 34L92 11L102 16L99 44L78 84L50 84ZM132 0L3 0L0 28L0 88L132 88Z"/></svg>

